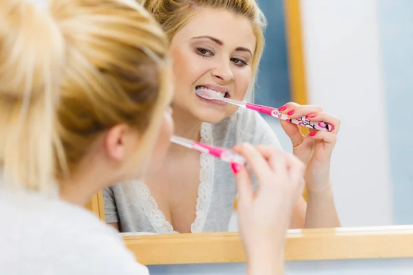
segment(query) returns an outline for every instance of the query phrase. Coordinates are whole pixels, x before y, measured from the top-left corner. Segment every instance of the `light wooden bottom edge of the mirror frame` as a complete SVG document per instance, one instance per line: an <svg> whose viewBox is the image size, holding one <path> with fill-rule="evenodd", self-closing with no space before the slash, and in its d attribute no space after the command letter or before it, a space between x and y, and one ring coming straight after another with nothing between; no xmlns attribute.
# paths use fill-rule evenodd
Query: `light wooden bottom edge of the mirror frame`
<svg viewBox="0 0 413 275"><path fill-rule="evenodd" d="M145 265L241 263L246 261L237 233L123 236ZM413 257L413 226L357 230L296 230L286 241L287 261Z"/></svg>

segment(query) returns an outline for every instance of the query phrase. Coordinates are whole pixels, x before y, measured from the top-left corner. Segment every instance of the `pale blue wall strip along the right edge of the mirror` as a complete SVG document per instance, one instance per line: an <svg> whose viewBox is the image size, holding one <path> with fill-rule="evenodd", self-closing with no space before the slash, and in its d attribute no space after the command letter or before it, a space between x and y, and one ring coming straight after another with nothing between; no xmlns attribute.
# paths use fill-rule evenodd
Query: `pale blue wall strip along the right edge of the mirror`
<svg viewBox="0 0 413 275"><path fill-rule="evenodd" d="M387 97L394 223L412 224L413 1L379 0L377 3ZM370 195L374 196L374 190Z"/></svg>

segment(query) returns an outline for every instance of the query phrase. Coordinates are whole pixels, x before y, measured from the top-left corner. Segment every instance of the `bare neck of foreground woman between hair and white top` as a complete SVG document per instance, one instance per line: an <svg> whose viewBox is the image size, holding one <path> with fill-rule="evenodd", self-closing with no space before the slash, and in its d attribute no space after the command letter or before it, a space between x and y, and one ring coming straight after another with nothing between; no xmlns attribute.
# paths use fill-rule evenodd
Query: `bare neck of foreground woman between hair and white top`
<svg viewBox="0 0 413 275"><path fill-rule="evenodd" d="M61 199L78 206L85 206L102 189L102 186L107 186L96 181L96 177L92 173L78 173L73 177L61 180L59 182Z"/></svg>

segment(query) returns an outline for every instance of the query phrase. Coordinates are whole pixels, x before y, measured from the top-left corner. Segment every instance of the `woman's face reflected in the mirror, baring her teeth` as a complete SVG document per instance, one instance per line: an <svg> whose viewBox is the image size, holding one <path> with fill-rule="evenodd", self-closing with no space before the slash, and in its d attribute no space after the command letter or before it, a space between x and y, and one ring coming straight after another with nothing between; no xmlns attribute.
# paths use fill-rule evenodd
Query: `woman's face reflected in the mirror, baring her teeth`
<svg viewBox="0 0 413 275"><path fill-rule="evenodd" d="M173 109L209 123L232 115L237 107L204 100L195 90L206 87L243 100L251 81L255 41L248 19L226 10L197 11L171 41Z"/></svg>

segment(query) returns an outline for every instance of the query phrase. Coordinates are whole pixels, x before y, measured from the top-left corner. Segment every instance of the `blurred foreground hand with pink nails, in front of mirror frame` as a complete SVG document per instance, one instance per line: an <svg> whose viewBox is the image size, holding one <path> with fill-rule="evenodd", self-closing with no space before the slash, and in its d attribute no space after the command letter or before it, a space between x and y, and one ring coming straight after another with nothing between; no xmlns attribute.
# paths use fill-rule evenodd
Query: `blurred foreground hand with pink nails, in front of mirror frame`
<svg viewBox="0 0 413 275"><path fill-rule="evenodd" d="M257 178L244 166L232 164L237 181L240 235L248 258L248 274L279 274L284 264L286 230L304 188L304 164L269 146L235 146Z"/></svg>

